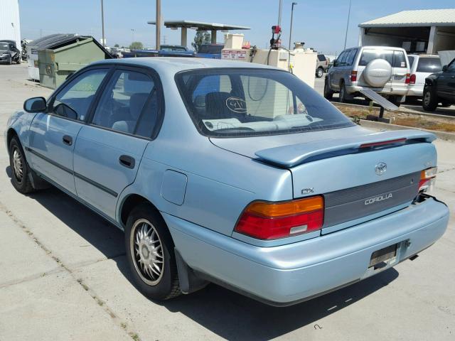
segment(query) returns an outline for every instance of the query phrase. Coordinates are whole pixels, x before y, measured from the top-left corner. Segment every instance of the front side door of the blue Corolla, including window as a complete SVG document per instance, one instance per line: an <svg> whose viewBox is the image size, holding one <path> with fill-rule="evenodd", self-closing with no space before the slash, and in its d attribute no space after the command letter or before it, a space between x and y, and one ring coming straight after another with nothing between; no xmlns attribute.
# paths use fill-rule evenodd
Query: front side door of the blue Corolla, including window
<svg viewBox="0 0 455 341"><path fill-rule="evenodd" d="M108 69L83 72L50 98L48 112L37 114L27 148L31 167L75 194L73 151L93 98Z"/></svg>

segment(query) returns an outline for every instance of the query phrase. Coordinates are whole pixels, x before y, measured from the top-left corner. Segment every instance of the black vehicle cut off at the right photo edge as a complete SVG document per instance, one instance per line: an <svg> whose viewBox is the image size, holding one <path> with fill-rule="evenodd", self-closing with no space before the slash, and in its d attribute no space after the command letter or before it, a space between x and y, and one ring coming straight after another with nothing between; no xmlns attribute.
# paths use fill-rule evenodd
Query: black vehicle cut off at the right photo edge
<svg viewBox="0 0 455 341"><path fill-rule="evenodd" d="M455 59L444 65L440 72L425 79L423 107L429 112L436 110L439 104L450 107L455 104Z"/></svg>

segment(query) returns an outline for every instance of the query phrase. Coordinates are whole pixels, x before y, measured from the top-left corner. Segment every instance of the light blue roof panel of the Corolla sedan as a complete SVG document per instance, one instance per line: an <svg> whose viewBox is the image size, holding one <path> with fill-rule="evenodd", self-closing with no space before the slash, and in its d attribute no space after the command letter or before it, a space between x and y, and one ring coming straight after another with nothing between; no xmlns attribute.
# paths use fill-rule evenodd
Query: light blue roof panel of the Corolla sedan
<svg viewBox="0 0 455 341"><path fill-rule="evenodd" d="M251 69L272 69L282 70L277 67L268 65L239 62L235 60L221 60L212 58L184 58L184 57L139 57L139 58L122 58L112 60L100 60L91 65L130 65L151 67L160 74L175 75L177 72L185 70L203 69L203 68L251 68Z"/></svg>

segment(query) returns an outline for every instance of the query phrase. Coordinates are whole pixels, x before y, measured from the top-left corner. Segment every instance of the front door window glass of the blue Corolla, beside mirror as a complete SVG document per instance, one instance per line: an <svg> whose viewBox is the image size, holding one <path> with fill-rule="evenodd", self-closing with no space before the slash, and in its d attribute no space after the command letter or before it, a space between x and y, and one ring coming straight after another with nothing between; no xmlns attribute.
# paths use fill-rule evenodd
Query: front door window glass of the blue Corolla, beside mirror
<svg viewBox="0 0 455 341"><path fill-rule="evenodd" d="M107 69L90 70L75 77L55 96L51 112L68 119L84 121L107 72Z"/></svg>

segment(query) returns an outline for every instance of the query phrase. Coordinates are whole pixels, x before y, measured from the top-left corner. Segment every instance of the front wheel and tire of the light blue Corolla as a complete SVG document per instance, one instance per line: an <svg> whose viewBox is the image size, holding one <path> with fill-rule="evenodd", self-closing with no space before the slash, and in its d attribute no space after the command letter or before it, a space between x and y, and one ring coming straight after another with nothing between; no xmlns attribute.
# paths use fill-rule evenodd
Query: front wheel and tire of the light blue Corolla
<svg viewBox="0 0 455 341"><path fill-rule="evenodd" d="M9 143L9 166L11 168L11 183L19 193L27 194L35 191L30 180L31 169L28 167L25 153L16 136Z"/></svg>

